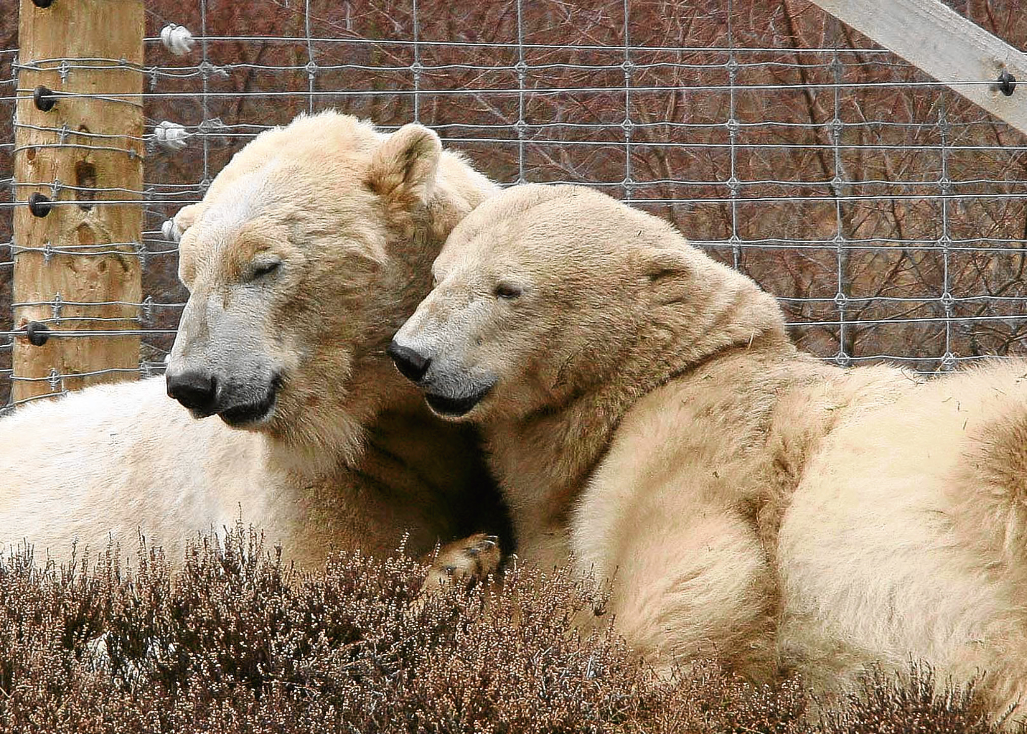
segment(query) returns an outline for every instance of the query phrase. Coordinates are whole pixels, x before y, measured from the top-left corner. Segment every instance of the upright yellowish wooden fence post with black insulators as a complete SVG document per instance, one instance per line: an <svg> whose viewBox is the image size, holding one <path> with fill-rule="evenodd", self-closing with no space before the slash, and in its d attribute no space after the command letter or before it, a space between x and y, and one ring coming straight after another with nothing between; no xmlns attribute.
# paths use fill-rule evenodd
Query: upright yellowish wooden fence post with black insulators
<svg viewBox="0 0 1027 734"><path fill-rule="evenodd" d="M140 198L131 192L143 189L140 95L144 78L139 72L143 2L58 0L38 8L31 0L21 0L18 32L16 200L26 201L33 192L53 198L54 181L84 189L122 190L59 188L58 200L78 204L54 206L42 218L33 216L28 207L14 209L14 327L41 321L60 331L138 330L138 306L73 303L139 303L142 298L141 262L132 243L142 242L143 209L98 201ZM46 61L61 59L82 60L68 62L68 67L92 68L62 71L60 61ZM32 90L40 84L101 97L58 97L52 109L42 111L32 99ZM58 146L62 142L66 145ZM46 248L51 252L45 252ZM58 296L65 304L54 319L50 303ZM132 377L131 373L106 373L56 384L39 379L50 376L51 370L80 374L111 367L138 368L139 356L139 336L53 337L41 346L18 337L12 355L11 399Z"/></svg>

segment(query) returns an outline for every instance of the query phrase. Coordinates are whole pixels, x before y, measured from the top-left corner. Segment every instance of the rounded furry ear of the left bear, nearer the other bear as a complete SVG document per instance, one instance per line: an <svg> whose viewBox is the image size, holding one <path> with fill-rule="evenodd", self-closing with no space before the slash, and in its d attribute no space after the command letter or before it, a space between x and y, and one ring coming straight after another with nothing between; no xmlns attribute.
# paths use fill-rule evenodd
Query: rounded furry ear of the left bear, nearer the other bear
<svg viewBox="0 0 1027 734"><path fill-rule="evenodd" d="M397 203L425 204L431 195L443 145L417 123L406 124L378 146L368 170L368 185Z"/></svg>

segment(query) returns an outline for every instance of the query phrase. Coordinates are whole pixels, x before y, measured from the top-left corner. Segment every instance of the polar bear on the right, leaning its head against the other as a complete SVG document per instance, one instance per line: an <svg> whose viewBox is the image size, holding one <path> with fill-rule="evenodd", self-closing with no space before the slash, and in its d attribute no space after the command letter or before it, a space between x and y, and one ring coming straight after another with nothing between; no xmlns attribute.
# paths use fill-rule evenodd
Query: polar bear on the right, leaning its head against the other
<svg viewBox="0 0 1027 734"><path fill-rule="evenodd" d="M453 231L389 346L485 432L522 560L612 580L658 665L716 651L825 696L866 666L1027 692L1027 363L843 370L668 223L526 185Z"/></svg>

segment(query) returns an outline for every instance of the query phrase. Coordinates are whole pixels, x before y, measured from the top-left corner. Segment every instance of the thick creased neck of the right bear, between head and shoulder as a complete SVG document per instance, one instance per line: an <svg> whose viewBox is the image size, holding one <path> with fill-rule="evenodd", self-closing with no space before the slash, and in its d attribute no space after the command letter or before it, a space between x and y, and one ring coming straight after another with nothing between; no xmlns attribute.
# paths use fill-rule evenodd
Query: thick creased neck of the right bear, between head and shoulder
<svg viewBox="0 0 1027 734"><path fill-rule="evenodd" d="M506 492L519 542L531 546L532 536L559 536L566 528L575 499L639 399L739 350L796 353L769 294L692 252L696 267L688 282L655 304L640 301L638 319L624 329L631 336L621 341L615 368L598 380L591 375L589 387L560 406L499 421L487 432L493 471Z"/></svg>

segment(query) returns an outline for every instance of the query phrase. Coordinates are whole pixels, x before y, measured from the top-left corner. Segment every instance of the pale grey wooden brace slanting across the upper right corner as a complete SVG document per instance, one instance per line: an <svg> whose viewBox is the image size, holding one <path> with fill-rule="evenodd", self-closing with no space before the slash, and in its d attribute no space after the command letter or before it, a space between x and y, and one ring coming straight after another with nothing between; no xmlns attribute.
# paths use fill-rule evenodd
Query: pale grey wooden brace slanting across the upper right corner
<svg viewBox="0 0 1027 734"><path fill-rule="evenodd" d="M971 102L1027 134L1027 54L938 0L812 0ZM995 83L1007 71L1012 96Z"/></svg>

